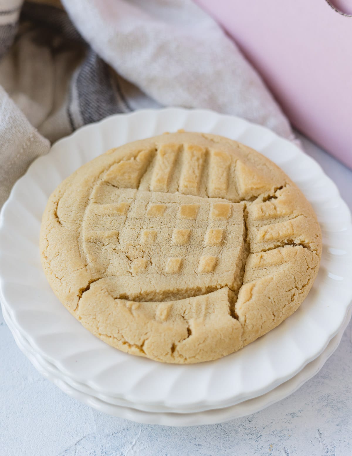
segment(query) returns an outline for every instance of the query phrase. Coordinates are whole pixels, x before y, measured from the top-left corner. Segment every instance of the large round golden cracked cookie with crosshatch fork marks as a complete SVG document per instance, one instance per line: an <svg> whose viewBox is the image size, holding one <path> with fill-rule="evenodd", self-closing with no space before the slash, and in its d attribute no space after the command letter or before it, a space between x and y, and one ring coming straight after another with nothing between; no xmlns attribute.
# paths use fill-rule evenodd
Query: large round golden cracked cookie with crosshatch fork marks
<svg viewBox="0 0 352 456"><path fill-rule="evenodd" d="M40 246L57 297L97 337L197 363L238 350L300 306L321 231L270 160L179 132L109 150L63 181Z"/></svg>

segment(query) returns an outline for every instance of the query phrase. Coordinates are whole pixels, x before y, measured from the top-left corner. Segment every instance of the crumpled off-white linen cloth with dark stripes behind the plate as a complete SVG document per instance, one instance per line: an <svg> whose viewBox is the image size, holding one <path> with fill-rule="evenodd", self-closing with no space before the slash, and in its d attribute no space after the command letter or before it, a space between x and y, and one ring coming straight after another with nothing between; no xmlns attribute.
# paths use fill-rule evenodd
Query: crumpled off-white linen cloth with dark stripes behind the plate
<svg viewBox="0 0 352 456"><path fill-rule="evenodd" d="M290 125L191 0L0 1L0 207L49 141L107 115L183 106Z"/></svg>

